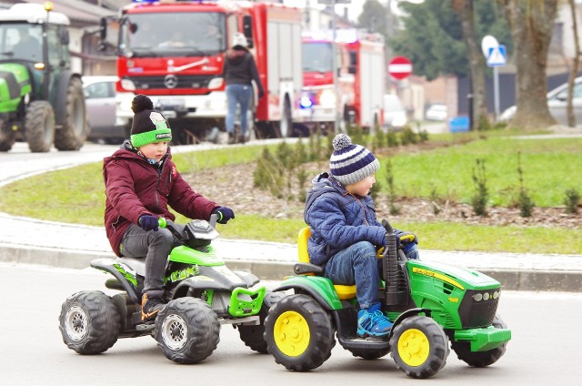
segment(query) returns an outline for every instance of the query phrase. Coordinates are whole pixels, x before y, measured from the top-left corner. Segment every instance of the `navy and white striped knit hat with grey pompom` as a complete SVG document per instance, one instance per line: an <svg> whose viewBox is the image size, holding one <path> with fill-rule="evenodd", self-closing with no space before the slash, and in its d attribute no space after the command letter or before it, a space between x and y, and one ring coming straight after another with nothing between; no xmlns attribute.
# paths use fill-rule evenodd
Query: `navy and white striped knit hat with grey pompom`
<svg viewBox="0 0 582 386"><path fill-rule="evenodd" d="M374 154L366 147L354 145L346 134L338 134L332 145L334 153L329 158L329 170L344 186L361 181L380 168Z"/></svg>

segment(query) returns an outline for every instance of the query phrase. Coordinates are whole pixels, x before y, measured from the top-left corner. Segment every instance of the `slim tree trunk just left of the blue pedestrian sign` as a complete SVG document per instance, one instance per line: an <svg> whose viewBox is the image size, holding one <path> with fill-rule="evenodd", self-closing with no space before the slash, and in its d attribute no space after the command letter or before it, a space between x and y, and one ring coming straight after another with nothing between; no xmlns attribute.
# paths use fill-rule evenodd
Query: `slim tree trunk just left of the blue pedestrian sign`
<svg viewBox="0 0 582 386"><path fill-rule="evenodd" d="M488 127L487 88L485 83L485 58L477 44L473 0L453 0L453 9L461 18L463 39L467 46L467 57L471 72L471 92L473 94L473 122L471 128Z"/></svg>

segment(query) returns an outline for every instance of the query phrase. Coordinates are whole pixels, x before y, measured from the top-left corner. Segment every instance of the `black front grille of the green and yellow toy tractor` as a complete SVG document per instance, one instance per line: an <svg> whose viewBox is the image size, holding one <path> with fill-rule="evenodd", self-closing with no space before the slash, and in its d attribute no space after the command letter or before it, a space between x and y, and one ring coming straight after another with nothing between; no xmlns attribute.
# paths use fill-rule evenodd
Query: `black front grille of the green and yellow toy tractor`
<svg viewBox="0 0 582 386"><path fill-rule="evenodd" d="M495 299L488 296L487 300L483 299L483 294L487 295L497 291ZM465 297L461 301L458 309L459 317L464 329L472 329L477 327L487 327L495 318L497 312L497 303L500 289L497 290L467 290ZM481 299L481 300L476 300Z"/></svg>

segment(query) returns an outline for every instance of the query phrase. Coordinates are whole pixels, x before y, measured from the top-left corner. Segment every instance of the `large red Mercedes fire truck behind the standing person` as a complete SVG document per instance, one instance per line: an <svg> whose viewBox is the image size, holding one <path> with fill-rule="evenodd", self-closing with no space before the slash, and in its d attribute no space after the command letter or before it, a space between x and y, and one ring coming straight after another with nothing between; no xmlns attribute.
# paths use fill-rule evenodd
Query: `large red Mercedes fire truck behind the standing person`
<svg viewBox="0 0 582 386"><path fill-rule="evenodd" d="M102 22L102 39L110 22ZM223 66L226 49L239 32L249 42L266 89L259 99L255 86L248 122L256 130L249 130L251 135L291 134L303 83L298 8L243 1L134 0L115 22L120 79L116 114L126 130L136 94L149 96L169 119L176 143L196 143L213 127L224 130Z"/></svg>

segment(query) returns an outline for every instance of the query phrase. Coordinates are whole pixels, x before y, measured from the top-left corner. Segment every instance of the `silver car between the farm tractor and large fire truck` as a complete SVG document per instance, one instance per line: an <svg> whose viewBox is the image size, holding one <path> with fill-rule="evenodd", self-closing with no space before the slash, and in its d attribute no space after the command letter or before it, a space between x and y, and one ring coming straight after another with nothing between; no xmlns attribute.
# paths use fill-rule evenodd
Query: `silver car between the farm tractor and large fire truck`
<svg viewBox="0 0 582 386"><path fill-rule="evenodd" d="M125 138L124 127L115 126L116 81L117 76L83 76L90 140L115 144Z"/></svg>

